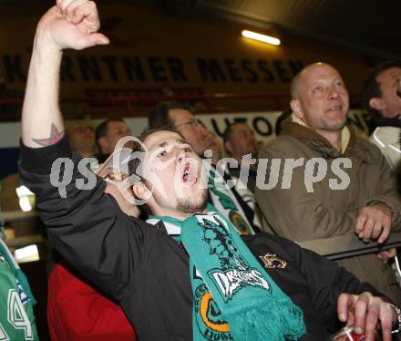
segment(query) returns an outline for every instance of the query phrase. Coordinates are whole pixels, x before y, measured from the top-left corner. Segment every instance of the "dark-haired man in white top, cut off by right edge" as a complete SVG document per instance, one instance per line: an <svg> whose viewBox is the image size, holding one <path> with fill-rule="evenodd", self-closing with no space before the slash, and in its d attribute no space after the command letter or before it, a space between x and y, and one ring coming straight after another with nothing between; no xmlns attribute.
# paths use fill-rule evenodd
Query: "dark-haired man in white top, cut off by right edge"
<svg viewBox="0 0 401 341"><path fill-rule="evenodd" d="M386 61L365 78L362 102L377 127L370 141L382 151L391 169L401 160L401 63Z"/></svg>

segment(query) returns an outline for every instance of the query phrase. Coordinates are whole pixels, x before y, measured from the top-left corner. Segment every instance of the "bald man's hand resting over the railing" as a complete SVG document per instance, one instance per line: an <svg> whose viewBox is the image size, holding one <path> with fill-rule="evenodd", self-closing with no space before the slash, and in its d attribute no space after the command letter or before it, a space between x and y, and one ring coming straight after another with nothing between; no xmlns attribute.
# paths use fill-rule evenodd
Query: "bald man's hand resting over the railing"
<svg viewBox="0 0 401 341"><path fill-rule="evenodd" d="M365 206L356 218L356 233L364 242L385 243L391 230L391 210L383 203Z"/></svg>

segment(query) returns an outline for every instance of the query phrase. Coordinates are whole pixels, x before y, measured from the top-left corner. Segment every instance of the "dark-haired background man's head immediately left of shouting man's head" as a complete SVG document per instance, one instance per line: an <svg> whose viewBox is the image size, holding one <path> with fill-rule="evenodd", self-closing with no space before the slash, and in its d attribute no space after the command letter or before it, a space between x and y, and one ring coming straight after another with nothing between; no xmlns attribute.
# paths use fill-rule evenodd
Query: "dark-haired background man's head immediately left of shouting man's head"
<svg viewBox="0 0 401 341"><path fill-rule="evenodd" d="M102 163L108 159L108 156L116 148L118 140L131 134L131 129L129 129L124 119L106 119L101 122L95 131L99 151L98 161Z"/></svg>

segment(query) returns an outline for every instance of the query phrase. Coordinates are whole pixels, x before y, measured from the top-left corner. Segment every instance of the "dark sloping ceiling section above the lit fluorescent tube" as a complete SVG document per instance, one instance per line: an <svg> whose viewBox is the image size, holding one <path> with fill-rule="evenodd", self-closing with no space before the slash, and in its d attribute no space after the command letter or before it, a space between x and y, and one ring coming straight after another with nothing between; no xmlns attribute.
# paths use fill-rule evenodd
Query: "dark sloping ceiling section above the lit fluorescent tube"
<svg viewBox="0 0 401 341"><path fill-rule="evenodd" d="M399 0L155 0L172 15L208 12L261 28L401 58Z"/></svg>

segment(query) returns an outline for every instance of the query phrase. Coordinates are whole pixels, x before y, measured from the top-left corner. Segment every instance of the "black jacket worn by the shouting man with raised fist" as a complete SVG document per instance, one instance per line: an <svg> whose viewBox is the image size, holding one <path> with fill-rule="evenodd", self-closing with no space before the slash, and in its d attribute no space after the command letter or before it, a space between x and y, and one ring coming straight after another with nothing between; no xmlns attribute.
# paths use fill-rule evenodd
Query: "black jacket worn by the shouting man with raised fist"
<svg viewBox="0 0 401 341"><path fill-rule="evenodd" d="M58 157L74 160L67 199L60 198L49 178ZM190 340L192 293L187 254L162 223L153 226L122 213L117 202L104 193L106 182L100 178L92 190L77 190L75 180L82 178L77 161L65 139L40 149L22 146L22 179L36 193L50 242L81 274L120 303L139 339ZM60 181L52 179L53 183ZM281 237L261 233L243 240L263 265L260 256L267 253L286 262L283 268L273 262L273 268L266 271L303 309L307 334L302 340L321 341L341 327L336 317L339 293L378 294L336 263Z"/></svg>

